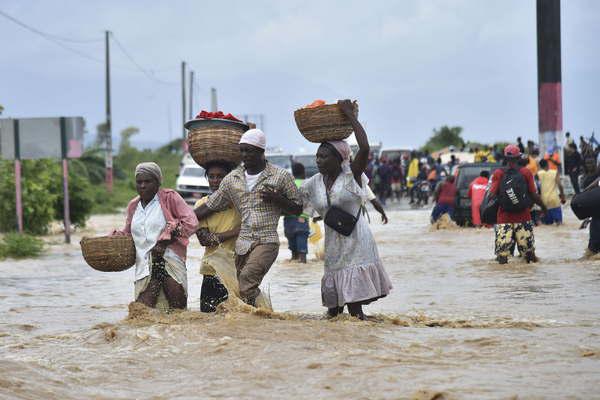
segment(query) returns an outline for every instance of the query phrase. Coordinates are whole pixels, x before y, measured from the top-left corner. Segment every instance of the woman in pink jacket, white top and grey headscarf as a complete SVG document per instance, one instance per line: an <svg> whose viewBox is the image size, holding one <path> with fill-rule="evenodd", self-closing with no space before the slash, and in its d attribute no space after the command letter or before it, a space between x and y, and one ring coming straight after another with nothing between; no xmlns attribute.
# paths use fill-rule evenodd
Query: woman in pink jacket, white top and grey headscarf
<svg viewBox="0 0 600 400"><path fill-rule="evenodd" d="M153 162L138 164L135 185L139 196L127 206L125 228L135 244L135 301L163 311L187 307L185 258L188 238L198 220L181 196L161 189L162 172Z"/></svg>

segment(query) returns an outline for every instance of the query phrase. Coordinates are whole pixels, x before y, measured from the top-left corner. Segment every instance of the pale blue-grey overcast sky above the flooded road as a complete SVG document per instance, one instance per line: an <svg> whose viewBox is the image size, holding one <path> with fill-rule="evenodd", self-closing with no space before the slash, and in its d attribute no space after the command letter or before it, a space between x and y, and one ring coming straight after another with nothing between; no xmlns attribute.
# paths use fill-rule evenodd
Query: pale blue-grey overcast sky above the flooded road
<svg viewBox="0 0 600 400"><path fill-rule="evenodd" d="M435 127L466 139L537 140L535 0L513 1L27 1L0 10L40 31L96 42L64 45L0 16L3 117L104 120L103 32L111 45L113 133L134 143L181 135L180 62L196 71L195 111L265 115L269 145L307 146L293 111L321 98L357 99L384 147L419 146ZM565 130L600 130L600 1L562 2ZM170 116L170 118L169 118ZM169 125L169 120L171 121ZM169 129L169 126L171 129Z"/></svg>

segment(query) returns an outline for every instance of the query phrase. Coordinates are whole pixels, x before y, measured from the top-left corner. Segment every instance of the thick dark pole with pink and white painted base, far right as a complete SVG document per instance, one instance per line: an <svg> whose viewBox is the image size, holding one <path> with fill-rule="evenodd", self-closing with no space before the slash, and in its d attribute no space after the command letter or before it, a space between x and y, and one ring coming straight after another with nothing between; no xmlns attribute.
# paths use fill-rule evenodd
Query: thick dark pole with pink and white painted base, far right
<svg viewBox="0 0 600 400"><path fill-rule="evenodd" d="M540 151L559 151L562 126L560 0L537 0L538 121ZM559 152L562 158L562 151ZM561 159L564 165L564 160Z"/></svg>

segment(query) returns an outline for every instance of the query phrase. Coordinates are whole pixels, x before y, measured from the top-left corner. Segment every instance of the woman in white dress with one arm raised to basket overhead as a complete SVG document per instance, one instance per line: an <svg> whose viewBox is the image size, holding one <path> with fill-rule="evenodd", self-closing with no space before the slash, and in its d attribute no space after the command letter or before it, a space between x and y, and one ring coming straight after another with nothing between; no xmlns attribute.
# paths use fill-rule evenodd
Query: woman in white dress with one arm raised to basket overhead
<svg viewBox="0 0 600 400"><path fill-rule="evenodd" d="M319 173L304 182L301 193L305 205L324 219L331 206L358 215L349 236L325 225L325 273L321 280L321 297L330 317L343 312L347 305L350 315L365 319L362 306L386 296L392 284L379 258L369 224L360 212L367 199L368 179L364 171L369 159L369 141L353 114L350 100L341 100L338 104L352 123L358 153L350 163L348 143L322 143L317 151Z"/></svg>

